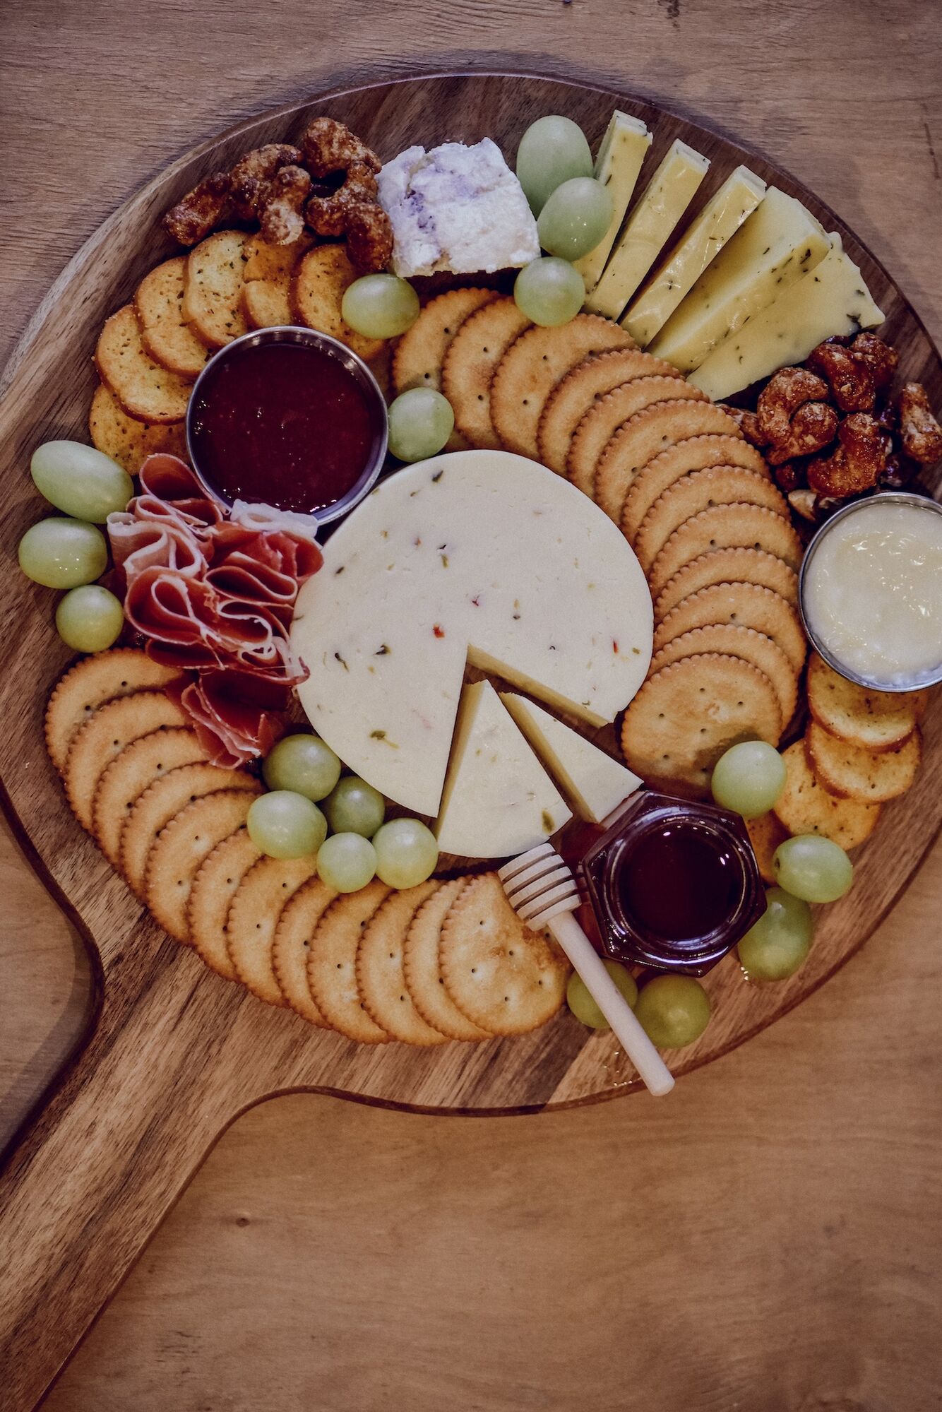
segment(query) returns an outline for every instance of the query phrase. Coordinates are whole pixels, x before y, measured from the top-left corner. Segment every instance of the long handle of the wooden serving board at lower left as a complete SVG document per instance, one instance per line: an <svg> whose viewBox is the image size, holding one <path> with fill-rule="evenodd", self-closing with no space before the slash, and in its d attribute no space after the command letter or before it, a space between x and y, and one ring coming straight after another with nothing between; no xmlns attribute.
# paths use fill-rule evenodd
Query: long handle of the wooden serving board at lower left
<svg viewBox="0 0 942 1412"><path fill-rule="evenodd" d="M109 1004L106 990L90 1042L0 1175L4 1412L35 1406L208 1148L251 1101L232 1028L220 1043L219 990L186 956L143 971L136 994Z"/></svg>

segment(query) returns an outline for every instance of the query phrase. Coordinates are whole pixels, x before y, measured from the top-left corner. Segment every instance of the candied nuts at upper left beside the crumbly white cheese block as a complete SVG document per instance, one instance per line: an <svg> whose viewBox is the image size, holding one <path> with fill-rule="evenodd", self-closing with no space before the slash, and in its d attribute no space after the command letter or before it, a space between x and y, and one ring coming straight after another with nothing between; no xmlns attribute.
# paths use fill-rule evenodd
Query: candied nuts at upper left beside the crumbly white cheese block
<svg viewBox="0 0 942 1412"><path fill-rule="evenodd" d="M181 246L229 220L257 220L264 240L287 246L309 226L346 237L359 270L386 270L393 256L390 217L377 202L380 160L349 127L315 117L298 147L270 143L213 172L164 216Z"/></svg>

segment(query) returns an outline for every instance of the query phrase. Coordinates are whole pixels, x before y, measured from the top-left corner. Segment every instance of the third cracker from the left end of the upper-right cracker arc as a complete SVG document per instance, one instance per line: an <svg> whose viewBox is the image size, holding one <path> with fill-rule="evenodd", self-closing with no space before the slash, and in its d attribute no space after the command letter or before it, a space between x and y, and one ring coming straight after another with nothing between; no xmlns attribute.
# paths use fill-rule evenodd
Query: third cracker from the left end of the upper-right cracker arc
<svg viewBox="0 0 942 1412"><path fill-rule="evenodd" d="M576 313L555 329L532 328L510 345L490 387L490 415L507 450L537 460L537 428L556 383L590 353L634 347L610 319Z"/></svg>

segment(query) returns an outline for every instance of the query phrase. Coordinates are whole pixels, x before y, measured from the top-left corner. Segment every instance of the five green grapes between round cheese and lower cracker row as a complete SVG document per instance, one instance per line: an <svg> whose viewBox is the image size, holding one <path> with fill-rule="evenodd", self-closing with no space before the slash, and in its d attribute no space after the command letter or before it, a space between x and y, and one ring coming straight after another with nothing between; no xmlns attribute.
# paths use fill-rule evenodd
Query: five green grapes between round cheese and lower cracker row
<svg viewBox="0 0 942 1412"><path fill-rule="evenodd" d="M268 794L249 809L249 836L273 858L316 854L318 875L338 892L357 892L374 877L387 887L417 887L438 863L435 834L419 819L386 820L378 789L340 761L319 736L285 736L263 765ZM328 834L328 829L330 833Z"/></svg>

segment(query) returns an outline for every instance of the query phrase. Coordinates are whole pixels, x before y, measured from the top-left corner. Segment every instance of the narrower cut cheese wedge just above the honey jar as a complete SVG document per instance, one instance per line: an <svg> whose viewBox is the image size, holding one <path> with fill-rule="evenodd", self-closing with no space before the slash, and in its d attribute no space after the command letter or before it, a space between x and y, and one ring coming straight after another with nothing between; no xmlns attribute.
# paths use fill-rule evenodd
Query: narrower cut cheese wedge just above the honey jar
<svg viewBox="0 0 942 1412"><path fill-rule="evenodd" d="M500 699L580 819L602 823L641 786L630 770L525 696L501 692Z"/></svg>

